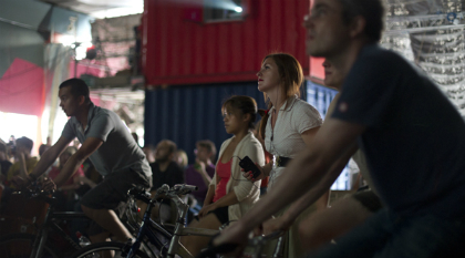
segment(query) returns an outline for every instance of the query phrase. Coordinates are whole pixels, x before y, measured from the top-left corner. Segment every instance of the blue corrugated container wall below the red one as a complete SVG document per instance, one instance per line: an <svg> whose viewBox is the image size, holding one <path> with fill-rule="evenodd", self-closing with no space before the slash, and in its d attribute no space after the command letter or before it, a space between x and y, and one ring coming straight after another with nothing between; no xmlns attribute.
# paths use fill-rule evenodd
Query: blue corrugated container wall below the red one
<svg viewBox="0 0 465 258"><path fill-rule="evenodd" d="M219 151L230 137L225 131L221 104L231 95L248 95L265 109L256 82L172 86L145 93L145 144L168 138L186 151L193 162L195 143L211 140Z"/></svg>

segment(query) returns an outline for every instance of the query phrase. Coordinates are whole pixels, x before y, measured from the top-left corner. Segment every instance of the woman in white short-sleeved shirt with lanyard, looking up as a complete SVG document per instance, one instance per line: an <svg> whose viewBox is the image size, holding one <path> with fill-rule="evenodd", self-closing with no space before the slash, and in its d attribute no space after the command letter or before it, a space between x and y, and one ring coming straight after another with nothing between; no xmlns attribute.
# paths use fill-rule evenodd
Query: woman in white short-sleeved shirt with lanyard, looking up
<svg viewBox="0 0 465 258"><path fill-rule="evenodd" d="M265 97L269 100L269 110L261 121L260 135L262 137L265 135L265 147L273 155L273 161L261 167L262 173L257 178L252 178L249 172L245 172L244 175L251 180L270 176L268 192L272 192L273 184L279 180L280 175L286 173L286 165L310 146L322 120L313 106L298 97L303 73L299 62L292 55L286 53L267 55L257 76L258 90L264 92ZM289 187L291 189L292 186ZM317 208L324 209L328 197L329 192L316 205L309 207L299 219L294 215L287 214L286 208L276 214L276 219L264 224L265 234L277 229L289 229L283 257L303 255L297 233L298 220ZM270 251L273 248L270 245Z"/></svg>

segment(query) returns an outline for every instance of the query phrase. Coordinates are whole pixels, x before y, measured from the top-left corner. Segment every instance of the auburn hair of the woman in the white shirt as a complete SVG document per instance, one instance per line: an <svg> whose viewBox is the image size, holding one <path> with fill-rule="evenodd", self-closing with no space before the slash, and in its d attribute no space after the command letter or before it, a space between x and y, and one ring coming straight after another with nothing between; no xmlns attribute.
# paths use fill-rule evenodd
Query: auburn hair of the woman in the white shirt
<svg viewBox="0 0 465 258"><path fill-rule="evenodd" d="M272 53L265 56L264 61L272 59L278 66L279 76L282 80L282 92L281 94L286 99L290 99L294 95L300 96L300 86L303 83L303 71L300 66L299 61L294 56L288 53ZM267 101L267 94L264 93L265 101ZM276 104L276 103L275 103ZM286 106L289 102L286 104ZM268 110L272 107L271 102L268 103ZM267 126L269 114L265 110L259 110L258 113L264 117L260 122L259 135L265 140L265 127Z"/></svg>

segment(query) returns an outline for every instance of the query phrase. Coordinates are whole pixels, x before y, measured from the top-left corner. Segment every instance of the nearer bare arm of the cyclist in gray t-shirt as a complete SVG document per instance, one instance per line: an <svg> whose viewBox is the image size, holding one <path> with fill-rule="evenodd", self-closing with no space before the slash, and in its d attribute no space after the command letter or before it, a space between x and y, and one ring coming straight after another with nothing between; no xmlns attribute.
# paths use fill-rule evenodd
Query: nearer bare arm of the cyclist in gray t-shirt
<svg viewBox="0 0 465 258"><path fill-rule="evenodd" d="M55 177L54 183L56 187L60 187L78 171L78 168L84 163L84 161L94 153L101 145L103 141L95 137L89 137L82 144L82 146L74 153L64 164L63 169Z"/></svg>

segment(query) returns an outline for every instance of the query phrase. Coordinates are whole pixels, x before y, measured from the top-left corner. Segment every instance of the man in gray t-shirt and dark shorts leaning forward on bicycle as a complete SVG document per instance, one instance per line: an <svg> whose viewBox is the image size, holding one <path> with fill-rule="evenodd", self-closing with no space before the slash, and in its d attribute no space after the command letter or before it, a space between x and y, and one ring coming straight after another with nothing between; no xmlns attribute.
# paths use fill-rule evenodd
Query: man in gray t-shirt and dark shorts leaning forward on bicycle
<svg viewBox="0 0 465 258"><path fill-rule="evenodd" d="M131 238L113 209L125 202L133 185L149 188L152 171L144 153L127 127L112 111L95 106L89 87L80 79L70 79L60 85L60 106L71 118L59 141L48 149L23 184L37 179L75 138L82 144L56 176L58 187L63 185L89 157L104 180L82 198L82 209L97 225L89 231L92 242L113 237L117 241ZM99 227L100 226L100 227Z"/></svg>

